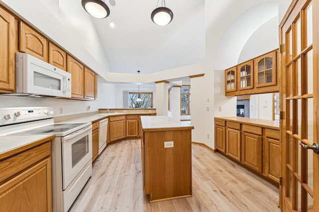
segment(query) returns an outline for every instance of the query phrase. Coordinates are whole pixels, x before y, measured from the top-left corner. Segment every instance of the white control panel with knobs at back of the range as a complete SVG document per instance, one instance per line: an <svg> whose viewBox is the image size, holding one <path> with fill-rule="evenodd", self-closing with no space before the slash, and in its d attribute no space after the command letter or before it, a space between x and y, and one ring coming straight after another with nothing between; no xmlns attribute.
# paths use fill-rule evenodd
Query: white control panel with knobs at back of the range
<svg viewBox="0 0 319 212"><path fill-rule="evenodd" d="M52 107L0 108L0 126L53 117L54 110Z"/></svg>

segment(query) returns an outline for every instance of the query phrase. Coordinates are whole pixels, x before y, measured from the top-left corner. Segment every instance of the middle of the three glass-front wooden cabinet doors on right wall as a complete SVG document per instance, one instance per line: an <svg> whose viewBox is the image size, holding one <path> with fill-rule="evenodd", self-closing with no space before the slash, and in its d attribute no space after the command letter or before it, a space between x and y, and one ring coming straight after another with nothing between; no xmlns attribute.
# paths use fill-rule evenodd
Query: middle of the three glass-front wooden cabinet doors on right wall
<svg viewBox="0 0 319 212"><path fill-rule="evenodd" d="M253 60L237 66L239 90L254 88Z"/></svg>

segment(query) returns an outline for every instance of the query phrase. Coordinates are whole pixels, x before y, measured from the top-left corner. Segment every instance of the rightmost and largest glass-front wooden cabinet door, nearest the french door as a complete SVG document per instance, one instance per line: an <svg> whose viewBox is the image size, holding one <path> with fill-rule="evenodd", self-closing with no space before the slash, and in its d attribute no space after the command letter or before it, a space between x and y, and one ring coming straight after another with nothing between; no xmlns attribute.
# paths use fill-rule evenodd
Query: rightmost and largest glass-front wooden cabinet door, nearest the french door
<svg viewBox="0 0 319 212"><path fill-rule="evenodd" d="M256 58L256 88L276 85L276 51Z"/></svg>

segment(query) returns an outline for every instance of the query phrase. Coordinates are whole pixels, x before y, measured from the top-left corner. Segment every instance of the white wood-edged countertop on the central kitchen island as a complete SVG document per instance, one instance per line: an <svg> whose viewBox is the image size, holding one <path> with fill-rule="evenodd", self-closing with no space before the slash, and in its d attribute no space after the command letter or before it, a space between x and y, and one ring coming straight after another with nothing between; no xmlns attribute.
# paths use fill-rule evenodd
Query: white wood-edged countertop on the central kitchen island
<svg viewBox="0 0 319 212"><path fill-rule="evenodd" d="M184 121L178 121L164 115L141 116L143 131L166 131L193 129L194 126Z"/></svg>

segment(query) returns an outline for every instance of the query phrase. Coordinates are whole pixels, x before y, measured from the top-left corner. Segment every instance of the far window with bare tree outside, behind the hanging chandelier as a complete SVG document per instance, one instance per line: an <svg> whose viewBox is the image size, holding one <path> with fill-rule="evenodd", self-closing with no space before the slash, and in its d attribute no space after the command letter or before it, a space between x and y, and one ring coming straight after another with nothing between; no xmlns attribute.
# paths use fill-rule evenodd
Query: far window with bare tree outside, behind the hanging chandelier
<svg viewBox="0 0 319 212"><path fill-rule="evenodd" d="M129 108L152 108L153 107L153 93L140 92L142 102L137 102L139 98L138 92L129 92Z"/></svg>

